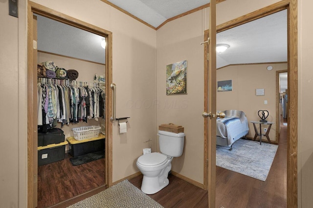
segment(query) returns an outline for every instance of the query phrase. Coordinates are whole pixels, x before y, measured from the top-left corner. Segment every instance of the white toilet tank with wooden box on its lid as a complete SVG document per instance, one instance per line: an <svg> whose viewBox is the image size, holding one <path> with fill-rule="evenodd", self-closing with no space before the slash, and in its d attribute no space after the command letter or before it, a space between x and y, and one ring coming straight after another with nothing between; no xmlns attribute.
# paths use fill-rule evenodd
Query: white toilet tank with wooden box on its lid
<svg viewBox="0 0 313 208"><path fill-rule="evenodd" d="M185 133L158 131L160 151L171 157L179 157L184 148Z"/></svg>

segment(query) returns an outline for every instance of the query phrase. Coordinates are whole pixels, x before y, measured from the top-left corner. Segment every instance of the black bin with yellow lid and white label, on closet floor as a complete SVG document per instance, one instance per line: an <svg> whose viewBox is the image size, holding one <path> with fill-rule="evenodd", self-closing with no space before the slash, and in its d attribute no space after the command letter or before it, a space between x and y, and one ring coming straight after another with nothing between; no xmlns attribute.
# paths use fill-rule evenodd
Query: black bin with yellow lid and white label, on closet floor
<svg viewBox="0 0 313 208"><path fill-rule="evenodd" d="M67 141L38 148L38 166L54 163L65 158Z"/></svg>

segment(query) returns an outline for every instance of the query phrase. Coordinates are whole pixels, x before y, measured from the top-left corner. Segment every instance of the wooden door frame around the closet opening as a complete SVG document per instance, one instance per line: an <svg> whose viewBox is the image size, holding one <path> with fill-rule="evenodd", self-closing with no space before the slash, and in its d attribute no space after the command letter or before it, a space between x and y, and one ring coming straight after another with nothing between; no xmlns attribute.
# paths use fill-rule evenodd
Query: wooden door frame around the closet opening
<svg viewBox="0 0 313 208"><path fill-rule="evenodd" d="M38 161L37 161L37 58L40 56L37 52L37 18L36 15L40 15L42 17L56 20L58 22L65 23L67 25L73 26L73 28L76 28L78 30L87 31L92 34L96 34L100 37L105 37L107 41L107 49L105 50L105 77L106 77L106 83L104 84L106 86L106 89L109 89L110 83L112 82L112 33L110 31L106 31L102 28L98 28L96 26L90 25L86 22L80 21L78 19L71 18L67 15L64 15L62 13L59 13L57 11L54 11L52 9L46 8L42 5L39 5L37 3L28 2L28 40L27 40L27 58L28 58L28 76L27 76L27 82L28 82L28 90L27 90L27 99L28 99L28 105L27 105L27 119L28 119L28 125L27 125L27 157L28 157L28 167L27 167L27 175L28 175L28 182L27 182L27 201L28 201L28 207L37 207L37 167L38 167ZM55 54L49 54L48 56L55 56ZM45 56L45 55L42 55ZM68 58L66 56L60 56L61 59ZM68 60L69 61L69 60ZM76 61L82 61L82 59L76 58L74 60ZM64 63L66 63L65 61ZM73 60L69 61L73 63ZM91 62L89 62L90 64ZM91 63L95 64L95 63ZM100 64L101 65L101 64ZM103 66L100 66L101 69L103 69ZM101 70L99 69L99 70ZM104 72L104 71L102 71ZM82 75L84 76L84 74ZM90 75L94 76L94 74ZM85 77L85 76L84 76ZM105 120L109 121L110 116L112 112L110 112L110 109L112 109L112 92L107 91L106 93L106 101L105 101L107 112L105 114ZM97 189L101 189L102 187L110 187L112 186L112 123L111 122L105 122L105 130L106 130L106 139L105 139L105 176L104 176L104 184L100 185L98 188L95 188L91 191L95 191ZM90 191L89 191L90 192ZM84 197L86 193L82 193L77 198L76 196L71 196L71 200L77 200ZM52 197L52 196L50 196ZM76 197L76 198L75 198ZM81 198L80 198L81 197ZM86 197L85 197L86 198ZM69 199L68 199L69 200Z"/></svg>

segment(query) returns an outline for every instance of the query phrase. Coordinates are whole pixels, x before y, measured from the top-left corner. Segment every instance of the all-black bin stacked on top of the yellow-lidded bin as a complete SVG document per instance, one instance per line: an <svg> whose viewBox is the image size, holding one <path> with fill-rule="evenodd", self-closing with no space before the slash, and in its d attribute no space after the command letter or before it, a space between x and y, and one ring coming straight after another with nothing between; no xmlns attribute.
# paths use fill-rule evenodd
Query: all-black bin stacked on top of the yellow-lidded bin
<svg viewBox="0 0 313 208"><path fill-rule="evenodd" d="M49 144L59 144L64 142L65 135L62 129L53 128L48 132L38 132L38 147L47 146Z"/></svg>

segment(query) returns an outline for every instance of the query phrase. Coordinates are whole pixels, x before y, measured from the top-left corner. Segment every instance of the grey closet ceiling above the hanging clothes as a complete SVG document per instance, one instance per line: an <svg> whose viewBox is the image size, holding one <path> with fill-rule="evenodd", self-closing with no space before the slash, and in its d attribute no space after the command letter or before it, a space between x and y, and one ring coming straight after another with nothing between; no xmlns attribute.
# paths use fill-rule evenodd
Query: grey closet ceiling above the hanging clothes
<svg viewBox="0 0 313 208"><path fill-rule="evenodd" d="M37 15L38 50L105 63L101 36Z"/></svg>

